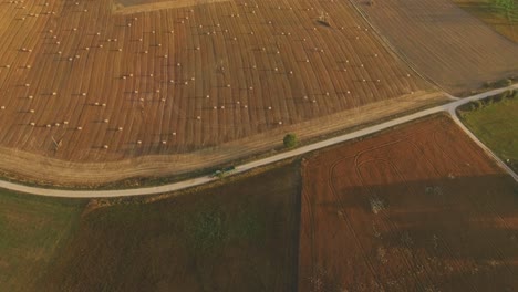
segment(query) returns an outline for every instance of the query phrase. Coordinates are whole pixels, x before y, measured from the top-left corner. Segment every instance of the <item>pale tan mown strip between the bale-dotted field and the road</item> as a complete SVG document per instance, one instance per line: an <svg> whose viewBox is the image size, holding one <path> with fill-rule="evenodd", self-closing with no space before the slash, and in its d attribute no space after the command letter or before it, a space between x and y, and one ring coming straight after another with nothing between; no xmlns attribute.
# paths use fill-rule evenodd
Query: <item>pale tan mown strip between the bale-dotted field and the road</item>
<svg viewBox="0 0 518 292"><path fill-rule="evenodd" d="M443 94L431 93L402 96L311 119L289 127L250 136L213 148L188 154L143 156L110 163L71 163L27 152L0 147L0 169L37 181L58 185L89 185L116 181L131 177L172 176L194 171L281 146L286 133L301 139L318 137L343 128L374 122L434 103L444 103Z"/></svg>

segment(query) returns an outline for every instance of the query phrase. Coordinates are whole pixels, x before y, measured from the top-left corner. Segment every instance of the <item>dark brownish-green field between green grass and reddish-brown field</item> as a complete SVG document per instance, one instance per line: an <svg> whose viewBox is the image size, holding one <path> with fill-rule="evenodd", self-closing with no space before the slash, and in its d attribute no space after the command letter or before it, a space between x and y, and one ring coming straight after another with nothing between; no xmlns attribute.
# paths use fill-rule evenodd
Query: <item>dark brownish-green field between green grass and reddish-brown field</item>
<svg viewBox="0 0 518 292"><path fill-rule="evenodd" d="M92 201L43 291L293 291L292 164L176 197Z"/></svg>

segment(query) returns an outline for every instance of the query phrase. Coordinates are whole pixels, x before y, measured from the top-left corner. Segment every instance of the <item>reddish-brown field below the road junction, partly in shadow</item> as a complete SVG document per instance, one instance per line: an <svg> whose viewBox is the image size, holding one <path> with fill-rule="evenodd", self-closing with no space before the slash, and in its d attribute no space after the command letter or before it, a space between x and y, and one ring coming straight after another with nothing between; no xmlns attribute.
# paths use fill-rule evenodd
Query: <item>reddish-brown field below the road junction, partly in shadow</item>
<svg viewBox="0 0 518 292"><path fill-rule="evenodd" d="M448 117L323 152L302 176L299 291L518 289L516 182Z"/></svg>

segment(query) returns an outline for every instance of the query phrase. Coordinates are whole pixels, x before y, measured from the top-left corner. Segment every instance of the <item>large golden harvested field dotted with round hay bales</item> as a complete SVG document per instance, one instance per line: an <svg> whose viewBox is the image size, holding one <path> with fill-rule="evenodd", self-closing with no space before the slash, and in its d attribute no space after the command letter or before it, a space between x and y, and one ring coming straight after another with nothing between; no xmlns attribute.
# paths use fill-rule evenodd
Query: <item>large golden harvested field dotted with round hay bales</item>
<svg viewBox="0 0 518 292"><path fill-rule="evenodd" d="M169 2L0 3L0 149L182 154L434 91L350 2Z"/></svg>

